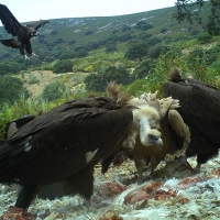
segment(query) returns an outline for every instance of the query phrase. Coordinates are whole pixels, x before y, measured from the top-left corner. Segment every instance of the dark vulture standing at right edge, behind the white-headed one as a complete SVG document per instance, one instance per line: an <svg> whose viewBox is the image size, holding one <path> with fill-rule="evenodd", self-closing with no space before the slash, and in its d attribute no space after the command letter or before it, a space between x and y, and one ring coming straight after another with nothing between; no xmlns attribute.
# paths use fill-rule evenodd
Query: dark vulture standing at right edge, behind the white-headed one
<svg viewBox="0 0 220 220"><path fill-rule="evenodd" d="M197 156L195 172L201 164L218 155L220 147L220 91L211 85L193 78L182 78L174 68L168 81L163 84L165 97L178 99L178 112L189 128L190 143L186 157Z"/></svg>

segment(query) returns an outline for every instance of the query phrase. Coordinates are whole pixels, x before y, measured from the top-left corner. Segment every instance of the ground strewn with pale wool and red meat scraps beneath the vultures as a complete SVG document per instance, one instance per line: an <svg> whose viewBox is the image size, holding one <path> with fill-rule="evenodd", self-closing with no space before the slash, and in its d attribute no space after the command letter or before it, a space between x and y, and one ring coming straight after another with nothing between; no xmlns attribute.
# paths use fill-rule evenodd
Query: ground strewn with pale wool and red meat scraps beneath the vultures
<svg viewBox="0 0 220 220"><path fill-rule="evenodd" d="M195 158L188 160L191 166ZM160 164L155 178L136 184L134 163L128 160L101 176L95 172L95 194L89 210L78 197L53 201L35 199L29 212L11 208L16 186L0 185L2 219L76 219L76 220L163 220L220 219L220 155L193 175L185 167L176 169L178 160ZM8 210L8 212L7 212Z"/></svg>

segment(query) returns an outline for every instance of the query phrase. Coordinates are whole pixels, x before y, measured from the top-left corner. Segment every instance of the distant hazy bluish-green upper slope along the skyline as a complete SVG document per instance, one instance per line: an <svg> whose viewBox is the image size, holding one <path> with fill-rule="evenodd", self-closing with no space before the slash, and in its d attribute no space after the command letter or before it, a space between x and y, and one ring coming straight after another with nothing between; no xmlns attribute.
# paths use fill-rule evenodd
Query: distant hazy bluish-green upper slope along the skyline
<svg viewBox="0 0 220 220"><path fill-rule="evenodd" d="M33 57L29 63L24 63L16 50L2 45L0 58L6 63L22 63L23 68L26 68L42 62L73 58L80 50L90 52L101 48L109 41L117 43L118 51L124 51L131 42L158 37L164 43L172 43L191 40L195 33L204 31L201 26L195 25L191 29L187 23L179 25L177 21L170 20L169 14L173 11L174 8L167 8L120 16L50 20L48 24L38 30L40 36L32 40L38 58ZM0 26L0 38L8 37L9 34Z"/></svg>

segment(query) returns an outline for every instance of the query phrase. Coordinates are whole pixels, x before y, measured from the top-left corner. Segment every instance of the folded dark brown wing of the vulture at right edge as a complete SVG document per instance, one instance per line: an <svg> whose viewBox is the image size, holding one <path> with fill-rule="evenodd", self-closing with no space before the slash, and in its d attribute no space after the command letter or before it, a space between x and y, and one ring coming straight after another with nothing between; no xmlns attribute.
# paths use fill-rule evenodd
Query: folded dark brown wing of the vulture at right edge
<svg viewBox="0 0 220 220"><path fill-rule="evenodd" d="M166 81L164 96L179 99L178 109L184 121L205 136L220 143L220 91L196 80L190 82Z"/></svg>

